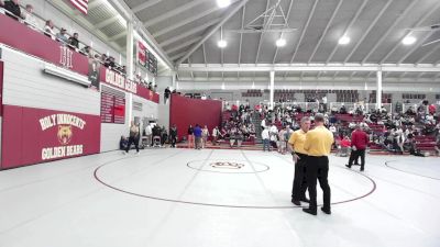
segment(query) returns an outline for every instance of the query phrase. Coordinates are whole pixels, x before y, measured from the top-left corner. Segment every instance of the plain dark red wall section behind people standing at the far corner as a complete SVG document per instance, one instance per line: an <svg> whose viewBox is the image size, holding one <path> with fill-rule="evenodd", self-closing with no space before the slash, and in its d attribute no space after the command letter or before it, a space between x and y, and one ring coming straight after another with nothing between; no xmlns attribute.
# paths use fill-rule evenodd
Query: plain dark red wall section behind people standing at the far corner
<svg viewBox="0 0 440 247"><path fill-rule="evenodd" d="M176 124L179 139L187 135L189 124L208 126L212 133L215 126L221 123L221 101L189 99L178 94L172 94L169 105L169 127Z"/></svg>

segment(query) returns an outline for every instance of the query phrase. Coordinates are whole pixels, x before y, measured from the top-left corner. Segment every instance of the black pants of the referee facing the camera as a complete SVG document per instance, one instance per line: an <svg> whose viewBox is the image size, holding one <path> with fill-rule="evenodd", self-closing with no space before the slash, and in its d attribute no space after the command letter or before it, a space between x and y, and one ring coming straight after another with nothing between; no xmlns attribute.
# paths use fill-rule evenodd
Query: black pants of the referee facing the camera
<svg viewBox="0 0 440 247"><path fill-rule="evenodd" d="M294 183L292 187L292 200L301 201L306 199L307 180L306 180L306 164L307 155L296 153L299 157L297 162L295 162L295 176Z"/></svg>

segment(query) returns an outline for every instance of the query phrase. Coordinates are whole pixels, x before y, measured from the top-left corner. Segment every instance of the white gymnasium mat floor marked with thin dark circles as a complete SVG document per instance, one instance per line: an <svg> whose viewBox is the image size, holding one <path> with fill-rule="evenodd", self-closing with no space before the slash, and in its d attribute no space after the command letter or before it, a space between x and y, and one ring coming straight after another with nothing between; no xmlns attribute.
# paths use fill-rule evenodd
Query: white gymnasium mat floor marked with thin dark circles
<svg viewBox="0 0 440 247"><path fill-rule="evenodd" d="M366 159L359 173L331 156L337 204L318 216L290 203L294 165L275 153L113 151L4 170L0 246L440 246L440 158Z"/></svg>

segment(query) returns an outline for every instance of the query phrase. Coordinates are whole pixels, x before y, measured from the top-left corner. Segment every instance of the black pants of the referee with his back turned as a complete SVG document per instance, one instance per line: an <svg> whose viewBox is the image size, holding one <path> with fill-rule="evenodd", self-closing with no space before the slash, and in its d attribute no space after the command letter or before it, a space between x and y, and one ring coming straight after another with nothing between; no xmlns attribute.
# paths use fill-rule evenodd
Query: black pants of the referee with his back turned
<svg viewBox="0 0 440 247"><path fill-rule="evenodd" d="M329 158L327 156L309 156L307 159L307 187L309 190L310 204L309 209L317 211L317 179L323 193L323 210L330 211L330 186L328 181L329 176Z"/></svg>

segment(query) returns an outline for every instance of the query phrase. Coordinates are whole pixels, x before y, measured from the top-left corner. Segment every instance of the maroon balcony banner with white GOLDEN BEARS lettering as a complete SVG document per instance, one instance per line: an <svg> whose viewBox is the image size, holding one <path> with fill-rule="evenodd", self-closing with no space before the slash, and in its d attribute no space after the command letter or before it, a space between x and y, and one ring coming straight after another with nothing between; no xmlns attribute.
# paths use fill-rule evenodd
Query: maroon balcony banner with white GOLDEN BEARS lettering
<svg viewBox="0 0 440 247"><path fill-rule="evenodd" d="M100 81L113 86L116 88L122 89L128 92L132 92L141 98L158 103L160 96L158 93L153 92L146 87L136 83L134 81L128 80L124 75L108 69L105 66L101 66L100 72Z"/></svg>

